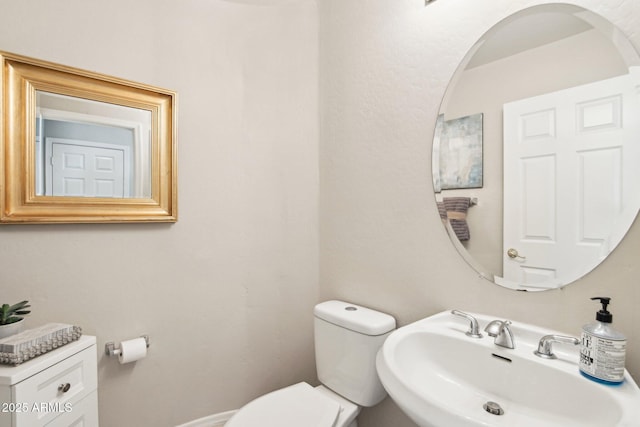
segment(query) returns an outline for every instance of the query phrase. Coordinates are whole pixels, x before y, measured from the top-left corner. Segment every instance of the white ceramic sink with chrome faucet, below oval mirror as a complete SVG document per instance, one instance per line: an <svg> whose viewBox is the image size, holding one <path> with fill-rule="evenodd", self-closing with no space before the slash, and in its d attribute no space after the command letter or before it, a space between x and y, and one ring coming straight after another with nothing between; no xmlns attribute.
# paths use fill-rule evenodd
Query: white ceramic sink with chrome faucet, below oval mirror
<svg viewBox="0 0 640 427"><path fill-rule="evenodd" d="M469 314L481 331L500 319ZM578 346L553 343L557 359L533 354L541 337L567 334L512 321L515 348L507 349L468 329L468 320L442 312L394 331L378 352L382 384L419 426L640 426L640 389L628 372L609 386L579 373Z"/></svg>

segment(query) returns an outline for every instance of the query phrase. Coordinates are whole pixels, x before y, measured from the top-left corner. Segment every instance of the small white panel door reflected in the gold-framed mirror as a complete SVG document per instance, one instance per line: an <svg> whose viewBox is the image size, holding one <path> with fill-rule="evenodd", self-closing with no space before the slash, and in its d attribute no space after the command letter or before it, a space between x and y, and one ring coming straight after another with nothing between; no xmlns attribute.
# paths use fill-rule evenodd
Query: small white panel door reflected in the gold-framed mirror
<svg viewBox="0 0 640 427"><path fill-rule="evenodd" d="M131 158L121 145L47 138L46 194L129 197Z"/></svg>

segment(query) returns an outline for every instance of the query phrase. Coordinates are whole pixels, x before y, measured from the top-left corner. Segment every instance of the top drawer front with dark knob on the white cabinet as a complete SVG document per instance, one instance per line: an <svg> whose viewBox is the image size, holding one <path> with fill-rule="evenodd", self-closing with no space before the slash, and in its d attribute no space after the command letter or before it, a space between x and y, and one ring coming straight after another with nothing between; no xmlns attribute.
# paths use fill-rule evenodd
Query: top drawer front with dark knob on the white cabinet
<svg viewBox="0 0 640 427"><path fill-rule="evenodd" d="M74 412L74 405L97 388L96 359L92 345L15 384L13 401L27 410L14 414L14 425L40 426Z"/></svg>

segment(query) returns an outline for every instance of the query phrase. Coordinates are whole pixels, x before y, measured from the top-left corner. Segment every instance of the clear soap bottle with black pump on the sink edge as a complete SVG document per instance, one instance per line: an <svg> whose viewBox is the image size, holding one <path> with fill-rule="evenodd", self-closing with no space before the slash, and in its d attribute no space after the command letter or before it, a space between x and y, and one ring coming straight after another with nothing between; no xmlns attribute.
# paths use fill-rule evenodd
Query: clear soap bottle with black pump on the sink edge
<svg viewBox="0 0 640 427"><path fill-rule="evenodd" d="M596 313L596 321L582 327L580 347L580 373L585 377L609 385L624 381L626 337L612 328L613 315L607 311L609 297L594 297L602 309Z"/></svg>

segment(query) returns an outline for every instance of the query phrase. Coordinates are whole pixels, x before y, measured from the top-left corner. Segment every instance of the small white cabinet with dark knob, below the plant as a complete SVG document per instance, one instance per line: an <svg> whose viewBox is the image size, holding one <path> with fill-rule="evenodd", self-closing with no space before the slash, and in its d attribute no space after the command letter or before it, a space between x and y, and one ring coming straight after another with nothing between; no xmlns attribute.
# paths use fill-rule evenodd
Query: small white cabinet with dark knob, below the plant
<svg viewBox="0 0 640 427"><path fill-rule="evenodd" d="M0 365L0 427L98 426L96 338Z"/></svg>

